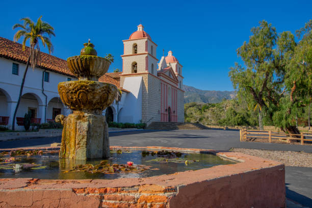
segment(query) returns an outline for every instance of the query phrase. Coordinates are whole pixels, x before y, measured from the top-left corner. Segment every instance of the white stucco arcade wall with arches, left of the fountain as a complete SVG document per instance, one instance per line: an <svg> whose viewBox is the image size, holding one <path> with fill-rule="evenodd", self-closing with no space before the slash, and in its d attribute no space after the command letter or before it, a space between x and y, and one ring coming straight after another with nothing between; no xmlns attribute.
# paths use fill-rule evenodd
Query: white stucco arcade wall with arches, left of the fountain
<svg viewBox="0 0 312 208"><path fill-rule="evenodd" d="M12 65L13 63L18 64L18 75L12 74ZM20 63L17 61L13 61L6 58L0 58L0 90L4 92L4 94L7 94L7 97L9 96L9 99L5 101L4 97L0 96L0 106L7 102L7 113L4 112L4 110L0 111L0 116L10 116L9 119L9 127L12 126L12 118L14 114L14 110L16 107L16 103L18 100L18 95L20 91L20 84L22 82L23 73L25 70L25 64ZM26 75L24 88L22 95L24 96L26 94L26 98L21 99L18 111L17 111L17 117L23 117L25 113L28 112L28 108L37 108L37 118L41 118L41 122L45 122L44 114L45 114L45 96L42 94L42 73L43 69L36 67L35 69L32 69L31 67L28 68L28 72ZM65 74L56 73L53 71L49 71L49 82L43 82L44 87L44 93L47 96L47 102L49 102L50 99L54 97L59 97L58 93L58 84L60 82L67 81L67 76ZM72 80L77 80L74 77L70 77ZM29 98L29 95L33 95L33 99ZM63 112L62 112L63 113ZM65 115L66 112L64 111ZM49 118L48 115L46 118ZM17 127L16 129L23 127Z"/></svg>

